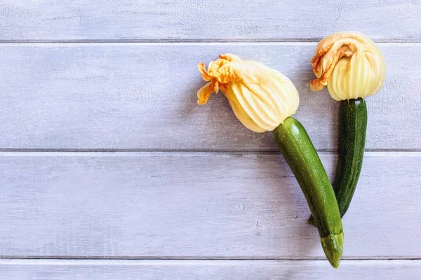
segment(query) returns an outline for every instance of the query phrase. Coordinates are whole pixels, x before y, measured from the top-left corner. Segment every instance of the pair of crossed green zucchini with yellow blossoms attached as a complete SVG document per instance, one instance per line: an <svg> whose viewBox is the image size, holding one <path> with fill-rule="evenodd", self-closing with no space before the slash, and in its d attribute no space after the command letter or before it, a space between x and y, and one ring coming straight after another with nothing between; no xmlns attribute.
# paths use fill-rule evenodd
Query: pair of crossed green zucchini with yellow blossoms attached
<svg viewBox="0 0 421 280"><path fill-rule="evenodd" d="M340 104L340 155L333 187L305 128L291 116L299 96L282 73L236 55L220 55L198 64L208 83L197 92L198 104L221 91L236 118L253 132L273 131L274 141L297 179L312 212L309 223L319 230L321 246L337 268L343 251L341 216L351 202L361 172L367 110L363 97L377 93L385 80L382 54L369 38L356 32L340 32L317 44L312 59L314 91L326 85Z"/></svg>

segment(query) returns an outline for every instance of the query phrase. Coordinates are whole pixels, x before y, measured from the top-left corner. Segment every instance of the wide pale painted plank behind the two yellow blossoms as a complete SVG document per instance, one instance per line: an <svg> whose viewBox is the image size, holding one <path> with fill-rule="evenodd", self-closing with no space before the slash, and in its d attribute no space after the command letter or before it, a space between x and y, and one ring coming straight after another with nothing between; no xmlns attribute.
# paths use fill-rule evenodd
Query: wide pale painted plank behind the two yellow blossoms
<svg viewBox="0 0 421 280"><path fill-rule="evenodd" d="M0 148L276 151L227 100L196 105L198 62L234 52L279 69L316 148L337 146L338 102L313 93L314 43L51 43L0 46ZM382 43L385 87L368 102L368 149L420 149L420 44ZM402 55L402 54L405 55Z"/></svg>

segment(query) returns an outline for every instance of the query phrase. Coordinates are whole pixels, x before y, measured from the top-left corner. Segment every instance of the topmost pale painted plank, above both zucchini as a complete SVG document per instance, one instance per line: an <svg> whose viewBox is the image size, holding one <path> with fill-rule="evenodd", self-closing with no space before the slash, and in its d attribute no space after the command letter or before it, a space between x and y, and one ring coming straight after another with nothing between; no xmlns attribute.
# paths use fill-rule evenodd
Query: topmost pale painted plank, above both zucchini
<svg viewBox="0 0 421 280"><path fill-rule="evenodd" d="M1 40L314 40L361 31L421 40L419 1L102 0L0 4Z"/></svg>

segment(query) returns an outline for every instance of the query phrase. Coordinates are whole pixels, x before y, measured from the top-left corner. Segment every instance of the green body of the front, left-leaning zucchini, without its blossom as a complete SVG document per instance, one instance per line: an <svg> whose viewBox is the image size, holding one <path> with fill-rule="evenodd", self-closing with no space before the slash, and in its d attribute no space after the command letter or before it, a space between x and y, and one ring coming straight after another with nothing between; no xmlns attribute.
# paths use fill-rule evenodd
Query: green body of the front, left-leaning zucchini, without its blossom
<svg viewBox="0 0 421 280"><path fill-rule="evenodd" d="M338 268L343 248L342 222L335 193L305 128L286 118L274 130L274 139L312 211L321 245L330 264Z"/></svg>

